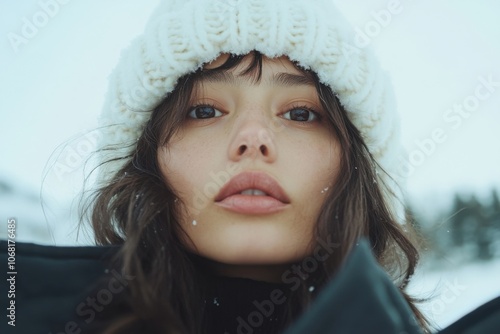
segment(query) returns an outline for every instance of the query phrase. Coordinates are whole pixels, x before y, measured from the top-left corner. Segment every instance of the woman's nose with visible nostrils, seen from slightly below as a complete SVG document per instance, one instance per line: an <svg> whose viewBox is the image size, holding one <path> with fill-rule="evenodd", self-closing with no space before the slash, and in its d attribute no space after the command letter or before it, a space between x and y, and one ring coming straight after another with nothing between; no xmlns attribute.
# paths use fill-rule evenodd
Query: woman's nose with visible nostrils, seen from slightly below
<svg viewBox="0 0 500 334"><path fill-rule="evenodd" d="M276 160L276 146L272 130L262 120L245 120L234 128L234 139L229 146L229 157L233 161L244 158Z"/></svg>

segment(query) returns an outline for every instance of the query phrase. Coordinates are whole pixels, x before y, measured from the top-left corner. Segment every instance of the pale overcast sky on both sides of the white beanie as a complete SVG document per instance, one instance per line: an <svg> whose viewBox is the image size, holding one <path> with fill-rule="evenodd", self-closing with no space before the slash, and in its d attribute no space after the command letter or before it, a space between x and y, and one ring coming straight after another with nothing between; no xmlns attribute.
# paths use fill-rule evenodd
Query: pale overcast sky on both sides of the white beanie
<svg viewBox="0 0 500 334"><path fill-rule="evenodd" d="M51 2L67 3L42 8ZM158 0L59 2L0 0L0 175L37 190L54 150L96 126L107 76ZM500 2L334 2L391 72L415 165L410 195L500 188ZM52 11L47 22L44 10ZM26 30L34 20L38 31ZM28 37L15 46L12 33L23 36L23 28ZM464 103L473 111L460 116L455 105ZM92 140L69 149L83 159ZM69 159L68 148L60 151L53 161ZM76 178L68 174L49 173L47 187L64 193Z"/></svg>

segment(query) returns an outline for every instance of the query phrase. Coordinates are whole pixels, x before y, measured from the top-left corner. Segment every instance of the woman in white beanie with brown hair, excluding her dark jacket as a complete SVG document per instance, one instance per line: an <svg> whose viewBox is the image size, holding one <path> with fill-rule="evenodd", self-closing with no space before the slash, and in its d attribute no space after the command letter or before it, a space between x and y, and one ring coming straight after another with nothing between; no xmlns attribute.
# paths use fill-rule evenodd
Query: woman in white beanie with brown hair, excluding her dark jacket
<svg viewBox="0 0 500 334"><path fill-rule="evenodd" d="M238 314L281 287L254 331L280 332L361 237L426 329L404 292L418 253L397 185L398 116L354 40L331 1L157 8L102 116L88 212L96 242L120 245L117 266L135 277L102 330L235 332Z"/></svg>

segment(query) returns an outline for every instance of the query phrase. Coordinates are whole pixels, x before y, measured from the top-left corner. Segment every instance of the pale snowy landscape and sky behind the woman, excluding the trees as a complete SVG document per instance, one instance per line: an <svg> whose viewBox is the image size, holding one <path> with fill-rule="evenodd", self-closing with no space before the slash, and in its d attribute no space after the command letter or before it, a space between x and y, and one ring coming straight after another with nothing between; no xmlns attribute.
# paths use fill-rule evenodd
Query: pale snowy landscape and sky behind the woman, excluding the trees
<svg viewBox="0 0 500 334"><path fill-rule="evenodd" d="M0 0L0 219L17 219L18 241L90 243L77 240L71 208L92 129L120 50L158 2ZM334 2L391 72L416 216L446 221L456 193L487 201L500 189L500 2ZM450 247L415 277L412 291L433 297L424 309L441 326L500 295L498 252L465 258Z"/></svg>

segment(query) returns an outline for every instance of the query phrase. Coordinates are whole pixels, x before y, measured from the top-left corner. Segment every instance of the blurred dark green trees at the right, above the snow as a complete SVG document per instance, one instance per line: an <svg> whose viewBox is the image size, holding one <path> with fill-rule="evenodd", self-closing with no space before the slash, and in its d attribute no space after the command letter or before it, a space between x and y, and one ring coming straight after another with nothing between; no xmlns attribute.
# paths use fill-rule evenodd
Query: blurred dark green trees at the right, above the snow
<svg viewBox="0 0 500 334"><path fill-rule="evenodd" d="M433 221L426 221L411 206L409 213L424 237L424 253L435 260L500 257L500 197L496 189L484 200L474 194L455 194L452 205Z"/></svg>

